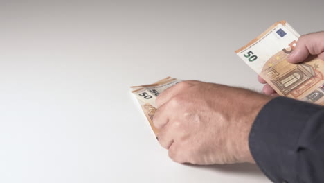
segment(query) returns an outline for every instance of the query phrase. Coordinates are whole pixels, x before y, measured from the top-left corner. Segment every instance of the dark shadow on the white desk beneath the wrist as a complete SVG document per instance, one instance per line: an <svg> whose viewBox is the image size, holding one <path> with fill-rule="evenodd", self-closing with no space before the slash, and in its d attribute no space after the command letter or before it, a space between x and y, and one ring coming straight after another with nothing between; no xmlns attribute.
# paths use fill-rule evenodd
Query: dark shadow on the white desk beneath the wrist
<svg viewBox="0 0 324 183"><path fill-rule="evenodd" d="M249 174L253 176L264 176L260 168L255 164L215 164L215 165L208 165L208 166L197 166L186 164L187 166L197 167L197 168L204 168L209 171L217 171L222 173L230 173L230 174Z"/></svg>

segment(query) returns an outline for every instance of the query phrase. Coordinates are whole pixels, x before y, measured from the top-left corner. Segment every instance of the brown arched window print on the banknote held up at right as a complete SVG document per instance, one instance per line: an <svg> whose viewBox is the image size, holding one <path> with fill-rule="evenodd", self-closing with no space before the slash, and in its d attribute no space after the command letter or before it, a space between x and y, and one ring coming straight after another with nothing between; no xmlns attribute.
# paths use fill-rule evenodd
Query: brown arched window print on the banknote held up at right
<svg viewBox="0 0 324 183"><path fill-rule="evenodd" d="M284 76L273 80L273 85L276 85L282 94L289 94L293 89L299 87L303 82L314 77L314 68L309 64L298 64L294 69L291 69Z"/></svg>

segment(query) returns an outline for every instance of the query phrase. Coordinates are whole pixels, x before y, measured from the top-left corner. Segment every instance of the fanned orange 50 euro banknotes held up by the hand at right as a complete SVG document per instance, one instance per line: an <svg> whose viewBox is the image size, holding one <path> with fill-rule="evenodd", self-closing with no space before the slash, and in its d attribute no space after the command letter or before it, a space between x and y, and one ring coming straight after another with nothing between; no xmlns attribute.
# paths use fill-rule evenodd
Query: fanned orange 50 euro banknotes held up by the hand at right
<svg viewBox="0 0 324 183"><path fill-rule="evenodd" d="M280 96L324 105L324 61L287 62L298 37L294 28L280 21L235 53Z"/></svg>

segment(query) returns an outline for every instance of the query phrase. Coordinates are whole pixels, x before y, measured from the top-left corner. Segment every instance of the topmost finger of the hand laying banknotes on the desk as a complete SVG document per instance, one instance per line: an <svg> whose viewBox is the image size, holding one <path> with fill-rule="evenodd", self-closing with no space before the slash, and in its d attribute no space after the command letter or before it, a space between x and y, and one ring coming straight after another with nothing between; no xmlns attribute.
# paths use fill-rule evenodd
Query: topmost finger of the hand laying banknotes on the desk
<svg viewBox="0 0 324 183"><path fill-rule="evenodd" d="M188 89L188 87L191 87L193 84L191 81L183 81L179 82L177 85L174 85L168 89L165 89L157 98L155 101L156 108L159 108L161 105L165 104L170 100L170 98L173 98L177 94L181 93L184 89Z"/></svg>

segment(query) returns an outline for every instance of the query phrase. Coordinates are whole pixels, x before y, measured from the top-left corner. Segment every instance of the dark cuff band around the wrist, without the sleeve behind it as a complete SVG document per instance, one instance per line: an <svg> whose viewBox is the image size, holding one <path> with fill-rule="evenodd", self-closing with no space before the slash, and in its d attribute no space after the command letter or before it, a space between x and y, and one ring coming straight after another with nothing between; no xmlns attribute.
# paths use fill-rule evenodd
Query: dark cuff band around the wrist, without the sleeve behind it
<svg viewBox="0 0 324 183"><path fill-rule="evenodd" d="M251 154L273 182L296 182L298 138L320 105L276 97L262 107L249 135Z"/></svg>

